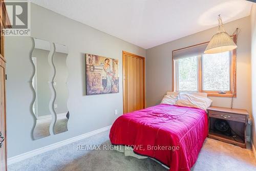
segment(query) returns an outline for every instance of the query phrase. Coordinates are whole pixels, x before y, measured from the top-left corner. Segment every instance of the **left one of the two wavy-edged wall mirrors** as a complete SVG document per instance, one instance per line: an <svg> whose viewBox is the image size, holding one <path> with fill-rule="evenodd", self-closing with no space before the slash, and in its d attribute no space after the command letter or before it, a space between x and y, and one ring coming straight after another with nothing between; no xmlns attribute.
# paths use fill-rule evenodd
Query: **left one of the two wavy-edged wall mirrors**
<svg viewBox="0 0 256 171"><path fill-rule="evenodd" d="M32 52L34 75L32 86L34 88L33 114L36 125L33 130L33 138L40 139L50 135L50 124L52 115L49 108L51 99L50 76L51 67L48 62L50 53L50 42L34 38L35 47Z"/></svg>

